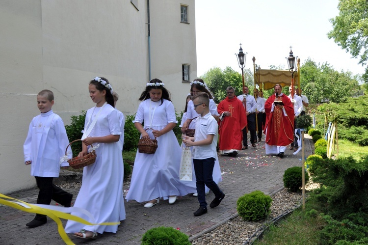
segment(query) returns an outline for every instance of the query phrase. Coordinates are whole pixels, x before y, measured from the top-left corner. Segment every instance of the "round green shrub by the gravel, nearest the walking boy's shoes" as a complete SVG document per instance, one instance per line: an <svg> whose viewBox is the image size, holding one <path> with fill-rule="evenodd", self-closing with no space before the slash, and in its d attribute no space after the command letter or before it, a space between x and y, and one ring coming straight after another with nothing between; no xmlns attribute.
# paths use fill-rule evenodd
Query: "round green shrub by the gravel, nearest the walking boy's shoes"
<svg viewBox="0 0 368 245"><path fill-rule="evenodd" d="M244 220L256 221L266 218L271 212L272 198L262 191L253 191L237 199L237 213Z"/></svg>

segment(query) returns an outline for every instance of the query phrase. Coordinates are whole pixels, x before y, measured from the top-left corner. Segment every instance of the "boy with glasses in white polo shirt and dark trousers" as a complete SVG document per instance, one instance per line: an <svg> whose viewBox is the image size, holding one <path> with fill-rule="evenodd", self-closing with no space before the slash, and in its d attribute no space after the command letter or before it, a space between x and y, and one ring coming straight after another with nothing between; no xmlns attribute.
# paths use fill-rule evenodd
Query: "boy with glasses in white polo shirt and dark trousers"
<svg viewBox="0 0 368 245"><path fill-rule="evenodd" d="M210 99L207 93L198 93L192 98L194 109L198 114L194 137L185 136L183 141L186 146L193 146L192 158L197 179L197 192L199 209L194 216L207 213L205 185L215 194L210 203L211 208L217 207L225 194L218 188L212 179L213 166L217 156L217 132L218 124L209 110Z"/></svg>

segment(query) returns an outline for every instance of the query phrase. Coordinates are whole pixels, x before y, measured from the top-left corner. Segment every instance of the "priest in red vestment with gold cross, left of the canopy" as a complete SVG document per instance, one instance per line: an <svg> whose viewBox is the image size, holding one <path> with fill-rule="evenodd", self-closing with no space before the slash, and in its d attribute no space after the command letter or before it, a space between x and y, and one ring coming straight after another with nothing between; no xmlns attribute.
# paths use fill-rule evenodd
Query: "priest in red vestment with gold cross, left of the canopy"
<svg viewBox="0 0 368 245"><path fill-rule="evenodd" d="M236 156L241 150L243 140L242 129L247 126L245 109L240 100L235 96L235 89L226 89L227 97L218 104L217 111L220 114L219 121L219 147L220 154Z"/></svg>

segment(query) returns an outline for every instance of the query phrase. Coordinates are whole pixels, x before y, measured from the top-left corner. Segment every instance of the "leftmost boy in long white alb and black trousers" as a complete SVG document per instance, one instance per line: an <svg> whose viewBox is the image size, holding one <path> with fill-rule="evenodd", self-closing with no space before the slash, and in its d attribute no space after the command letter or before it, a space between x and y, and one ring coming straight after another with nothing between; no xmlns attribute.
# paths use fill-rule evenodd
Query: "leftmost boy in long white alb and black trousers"
<svg viewBox="0 0 368 245"><path fill-rule="evenodd" d="M70 207L73 194L63 191L53 184L53 178L59 177L60 166L69 166L68 162L60 164L60 158L69 145L63 120L51 109L54 104L53 92L42 90L37 95L37 107L41 114L34 117L29 124L28 135L24 143L24 160L31 165L31 175L36 178L40 189L37 204L50 205L51 199L65 207ZM68 153L68 159L72 153ZM37 214L26 226L34 228L47 222L45 215Z"/></svg>

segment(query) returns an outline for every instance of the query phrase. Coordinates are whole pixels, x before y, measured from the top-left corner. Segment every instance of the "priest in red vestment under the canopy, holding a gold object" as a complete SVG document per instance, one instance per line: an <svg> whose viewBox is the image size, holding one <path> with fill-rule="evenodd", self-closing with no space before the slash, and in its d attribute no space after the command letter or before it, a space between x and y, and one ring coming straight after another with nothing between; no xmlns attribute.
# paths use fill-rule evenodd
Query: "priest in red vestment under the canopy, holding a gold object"
<svg viewBox="0 0 368 245"><path fill-rule="evenodd" d="M294 141L292 130L294 127L294 109L288 96L281 92L280 84L275 85L274 91L275 93L264 103L266 112L265 148L266 155L276 154L283 158L286 147Z"/></svg>

